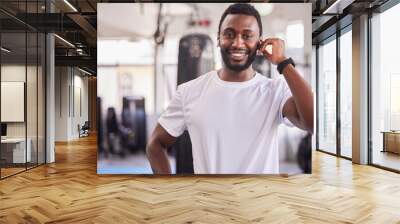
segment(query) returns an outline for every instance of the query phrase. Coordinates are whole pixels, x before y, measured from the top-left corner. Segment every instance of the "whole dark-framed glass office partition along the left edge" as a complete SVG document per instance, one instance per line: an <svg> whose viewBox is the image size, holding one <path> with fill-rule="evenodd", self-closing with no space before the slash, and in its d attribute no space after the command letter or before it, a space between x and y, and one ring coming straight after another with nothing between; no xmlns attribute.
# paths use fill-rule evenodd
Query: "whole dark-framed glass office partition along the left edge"
<svg viewBox="0 0 400 224"><path fill-rule="evenodd" d="M44 1L2 2L16 13L37 13ZM39 7L40 6L40 7ZM8 18L1 24L0 178L45 162L45 35Z"/></svg>

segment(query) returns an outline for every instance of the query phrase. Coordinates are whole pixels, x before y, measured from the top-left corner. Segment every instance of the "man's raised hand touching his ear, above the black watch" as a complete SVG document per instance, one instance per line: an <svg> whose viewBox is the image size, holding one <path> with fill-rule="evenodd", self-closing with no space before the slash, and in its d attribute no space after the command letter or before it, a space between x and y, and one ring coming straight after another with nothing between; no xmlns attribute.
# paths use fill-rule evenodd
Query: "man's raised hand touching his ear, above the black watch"
<svg viewBox="0 0 400 224"><path fill-rule="evenodd" d="M280 62L286 60L285 56L285 42L279 38L267 38L260 41L261 53L270 61L272 64L277 65ZM268 52L267 46L272 47L272 52Z"/></svg>

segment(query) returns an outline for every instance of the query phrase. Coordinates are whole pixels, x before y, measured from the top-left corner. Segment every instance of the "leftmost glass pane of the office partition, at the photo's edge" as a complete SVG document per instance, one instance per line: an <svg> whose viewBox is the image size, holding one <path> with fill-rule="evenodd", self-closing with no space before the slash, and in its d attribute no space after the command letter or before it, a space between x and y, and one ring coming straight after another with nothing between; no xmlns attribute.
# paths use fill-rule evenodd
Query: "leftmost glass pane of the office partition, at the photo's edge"
<svg viewBox="0 0 400 224"><path fill-rule="evenodd" d="M1 33L1 177L25 170L30 162L26 142L26 33ZM4 50L5 49L5 50ZM11 109L12 108L12 109Z"/></svg>

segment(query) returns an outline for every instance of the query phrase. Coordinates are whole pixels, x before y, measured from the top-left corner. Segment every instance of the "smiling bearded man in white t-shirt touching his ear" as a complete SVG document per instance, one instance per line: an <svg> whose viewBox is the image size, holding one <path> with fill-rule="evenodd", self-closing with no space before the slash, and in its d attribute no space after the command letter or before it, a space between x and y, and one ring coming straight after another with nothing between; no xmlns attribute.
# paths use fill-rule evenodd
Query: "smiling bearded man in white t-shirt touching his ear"
<svg viewBox="0 0 400 224"><path fill-rule="evenodd" d="M309 85L285 56L284 42L261 35L253 6L239 3L225 10L218 29L224 65L178 87L147 147L154 173L171 173L166 148L184 130L191 137L194 172L222 174L279 173L277 129L284 118L312 132ZM257 74L251 66L257 51L278 65L284 78Z"/></svg>

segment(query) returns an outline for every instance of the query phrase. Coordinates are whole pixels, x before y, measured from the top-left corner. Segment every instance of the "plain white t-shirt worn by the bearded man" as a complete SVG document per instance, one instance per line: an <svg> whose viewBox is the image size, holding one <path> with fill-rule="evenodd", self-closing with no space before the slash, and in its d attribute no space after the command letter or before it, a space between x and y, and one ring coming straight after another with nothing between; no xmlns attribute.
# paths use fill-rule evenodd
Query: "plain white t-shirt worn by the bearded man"
<svg viewBox="0 0 400 224"><path fill-rule="evenodd" d="M172 136L188 130L197 174L278 174L278 125L291 96L283 77L244 82L208 72L178 86L159 124Z"/></svg>

